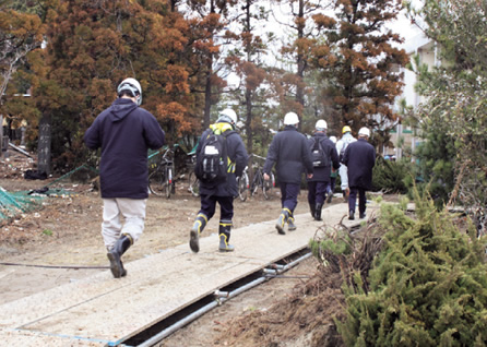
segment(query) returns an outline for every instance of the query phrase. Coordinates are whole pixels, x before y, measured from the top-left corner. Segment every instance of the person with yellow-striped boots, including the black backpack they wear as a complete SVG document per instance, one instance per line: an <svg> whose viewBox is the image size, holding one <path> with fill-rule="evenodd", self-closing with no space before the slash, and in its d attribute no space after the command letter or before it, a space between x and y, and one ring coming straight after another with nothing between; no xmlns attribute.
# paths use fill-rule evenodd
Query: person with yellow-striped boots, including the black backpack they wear
<svg viewBox="0 0 487 347"><path fill-rule="evenodd" d="M237 115L233 109L225 109L219 113L216 123L210 125L201 135L197 147L197 167L194 172L200 179L201 208L194 219L190 231L190 249L198 253L200 251L200 234L209 220L213 217L216 203L219 204L219 246L221 252L234 251L234 246L229 244L231 219L234 217L234 198L238 195L237 177L240 177L247 166L247 151L243 142L235 130ZM213 135L222 135L222 146L218 149L217 143L210 144ZM217 139L215 139L217 140ZM218 163L212 161L212 155L218 151ZM226 156L226 160L224 157ZM212 164L213 163L213 164ZM214 169L224 170L223 177Z"/></svg>

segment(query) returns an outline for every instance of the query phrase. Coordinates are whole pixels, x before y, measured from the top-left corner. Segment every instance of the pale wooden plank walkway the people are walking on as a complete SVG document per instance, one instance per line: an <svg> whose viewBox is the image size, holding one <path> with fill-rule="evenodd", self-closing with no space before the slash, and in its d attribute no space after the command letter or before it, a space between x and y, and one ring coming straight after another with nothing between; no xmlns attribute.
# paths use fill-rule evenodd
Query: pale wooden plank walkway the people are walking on
<svg viewBox="0 0 487 347"><path fill-rule="evenodd" d="M368 204L370 216L378 206ZM278 210L271 212L276 215ZM336 225L347 204L323 210ZM357 214L358 215L358 214ZM235 252L217 251L217 236L200 238L200 252L188 244L131 263L128 276L109 271L0 306L3 346L117 346L163 319L270 264L305 249L323 222L296 217L296 231L278 235L275 220L231 231ZM347 226L364 220L344 219ZM188 232L189 234L189 232ZM203 232L204 236L204 232Z"/></svg>

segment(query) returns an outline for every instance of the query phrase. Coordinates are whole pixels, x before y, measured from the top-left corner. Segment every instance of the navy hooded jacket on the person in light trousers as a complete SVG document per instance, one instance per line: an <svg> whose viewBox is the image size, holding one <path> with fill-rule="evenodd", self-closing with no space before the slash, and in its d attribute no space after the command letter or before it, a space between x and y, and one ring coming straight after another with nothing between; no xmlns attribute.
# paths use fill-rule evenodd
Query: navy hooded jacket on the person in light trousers
<svg viewBox="0 0 487 347"><path fill-rule="evenodd" d="M102 198L147 199L147 149L164 145L165 134L149 111L118 98L96 117L84 134L91 149L102 147Z"/></svg>

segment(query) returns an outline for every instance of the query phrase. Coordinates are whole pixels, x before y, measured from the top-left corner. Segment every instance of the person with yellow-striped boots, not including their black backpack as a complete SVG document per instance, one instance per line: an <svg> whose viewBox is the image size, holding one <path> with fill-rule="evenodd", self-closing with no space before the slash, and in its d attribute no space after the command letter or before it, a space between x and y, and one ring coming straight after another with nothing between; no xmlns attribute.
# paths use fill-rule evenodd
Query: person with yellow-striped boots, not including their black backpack
<svg viewBox="0 0 487 347"><path fill-rule="evenodd" d="M247 151L240 135L235 130L237 124L237 113L233 109L224 109L218 115L214 124L210 125L201 135L197 147L197 157L202 155L201 149L204 140L211 134L219 132L225 134L228 169L225 182L210 183L200 181L201 208L194 219L190 230L189 247L191 251L200 251L199 238L209 220L213 217L216 210L216 203L219 204L219 246L221 252L234 251L234 246L229 244L231 219L234 217L234 198L238 195L237 177L240 177L247 166Z"/></svg>

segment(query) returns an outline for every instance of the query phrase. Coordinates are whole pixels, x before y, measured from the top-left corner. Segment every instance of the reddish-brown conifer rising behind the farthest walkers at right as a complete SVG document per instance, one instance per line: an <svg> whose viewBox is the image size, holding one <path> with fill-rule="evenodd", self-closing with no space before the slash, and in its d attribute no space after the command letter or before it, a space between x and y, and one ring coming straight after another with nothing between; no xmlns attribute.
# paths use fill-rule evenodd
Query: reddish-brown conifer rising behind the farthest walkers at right
<svg viewBox="0 0 487 347"><path fill-rule="evenodd" d="M403 87L399 68L408 58L394 46L402 43L401 36L385 24L396 19L400 9L396 0L338 0L335 17L314 16L322 40L313 47L311 59L328 81L323 96L338 112L342 125L384 130L399 120L393 110ZM388 131L380 137L373 140L387 143Z"/></svg>

